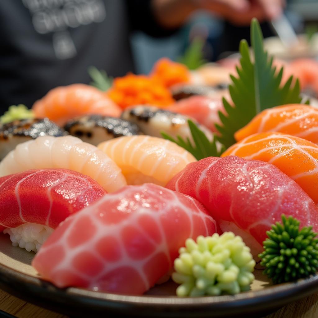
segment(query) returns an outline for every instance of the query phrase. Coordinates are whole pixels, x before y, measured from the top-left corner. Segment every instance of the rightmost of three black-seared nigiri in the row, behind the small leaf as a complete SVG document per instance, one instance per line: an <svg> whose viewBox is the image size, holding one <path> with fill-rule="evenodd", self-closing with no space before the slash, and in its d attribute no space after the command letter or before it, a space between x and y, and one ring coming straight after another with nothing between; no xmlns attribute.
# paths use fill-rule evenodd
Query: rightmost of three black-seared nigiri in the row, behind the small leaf
<svg viewBox="0 0 318 318"><path fill-rule="evenodd" d="M184 139L192 140L191 131L188 125L188 116L159 109L155 106L139 105L124 110L121 118L136 124L145 135L162 138L161 132L176 138L180 136ZM213 139L211 131L194 122L204 132L209 140Z"/></svg>

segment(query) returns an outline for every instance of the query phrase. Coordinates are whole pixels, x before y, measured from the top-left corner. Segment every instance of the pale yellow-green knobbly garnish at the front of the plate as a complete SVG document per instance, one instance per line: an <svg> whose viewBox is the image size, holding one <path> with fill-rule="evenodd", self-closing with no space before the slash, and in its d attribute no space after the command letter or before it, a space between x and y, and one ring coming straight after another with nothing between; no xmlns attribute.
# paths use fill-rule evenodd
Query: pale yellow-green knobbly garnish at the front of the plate
<svg viewBox="0 0 318 318"><path fill-rule="evenodd" d="M250 289L255 261L240 236L225 232L221 236L187 239L174 262L172 279L181 284L178 296L238 294Z"/></svg>

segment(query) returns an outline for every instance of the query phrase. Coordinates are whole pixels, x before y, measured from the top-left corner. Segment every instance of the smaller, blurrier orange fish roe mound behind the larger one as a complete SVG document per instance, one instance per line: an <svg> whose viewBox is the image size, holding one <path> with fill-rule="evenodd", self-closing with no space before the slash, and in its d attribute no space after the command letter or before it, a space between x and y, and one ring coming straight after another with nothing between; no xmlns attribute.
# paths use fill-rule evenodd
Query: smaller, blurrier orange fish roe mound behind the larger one
<svg viewBox="0 0 318 318"><path fill-rule="evenodd" d="M168 88L175 84L188 83L190 81L188 68L167 58L159 59L150 75L161 81Z"/></svg>

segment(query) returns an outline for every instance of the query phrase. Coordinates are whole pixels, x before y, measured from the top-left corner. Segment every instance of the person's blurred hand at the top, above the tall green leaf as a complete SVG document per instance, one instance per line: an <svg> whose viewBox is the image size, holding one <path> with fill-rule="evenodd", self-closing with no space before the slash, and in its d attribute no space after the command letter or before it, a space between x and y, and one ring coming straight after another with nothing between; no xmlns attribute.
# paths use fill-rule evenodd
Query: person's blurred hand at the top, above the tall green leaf
<svg viewBox="0 0 318 318"><path fill-rule="evenodd" d="M194 0L201 9L217 13L233 24L247 25L253 17L260 22L280 16L285 0Z"/></svg>

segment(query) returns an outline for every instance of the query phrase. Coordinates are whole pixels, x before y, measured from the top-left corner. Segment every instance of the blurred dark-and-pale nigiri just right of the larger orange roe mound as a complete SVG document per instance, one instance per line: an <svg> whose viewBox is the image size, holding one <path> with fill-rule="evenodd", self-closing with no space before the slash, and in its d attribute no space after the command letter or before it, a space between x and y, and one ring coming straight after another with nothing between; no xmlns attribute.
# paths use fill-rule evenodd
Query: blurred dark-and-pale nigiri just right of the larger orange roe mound
<svg viewBox="0 0 318 318"><path fill-rule="evenodd" d="M228 88L228 84L218 84L216 86L203 85L176 85L171 89L172 97L175 100L182 100L194 95L212 96L217 94L220 90Z"/></svg>

